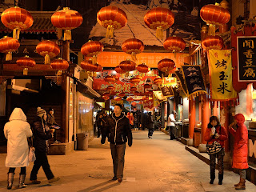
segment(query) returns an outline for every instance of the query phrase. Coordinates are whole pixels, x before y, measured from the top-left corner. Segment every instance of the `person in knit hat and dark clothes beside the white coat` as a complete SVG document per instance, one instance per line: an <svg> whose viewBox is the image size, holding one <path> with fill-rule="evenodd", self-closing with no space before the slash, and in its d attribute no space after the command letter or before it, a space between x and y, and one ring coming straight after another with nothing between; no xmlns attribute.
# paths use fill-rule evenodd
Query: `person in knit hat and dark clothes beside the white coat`
<svg viewBox="0 0 256 192"><path fill-rule="evenodd" d="M56 182L59 178L55 178L54 174L50 170L50 165L47 158L48 151L48 139L53 137L54 129L50 129L47 126L46 122L46 110L43 110L41 107L37 108L37 117L33 122L33 134L34 134L34 148L36 160L34 161L33 169L30 174L30 183L39 184L41 181L38 181L38 170L42 166L43 171L46 174L48 182Z"/></svg>

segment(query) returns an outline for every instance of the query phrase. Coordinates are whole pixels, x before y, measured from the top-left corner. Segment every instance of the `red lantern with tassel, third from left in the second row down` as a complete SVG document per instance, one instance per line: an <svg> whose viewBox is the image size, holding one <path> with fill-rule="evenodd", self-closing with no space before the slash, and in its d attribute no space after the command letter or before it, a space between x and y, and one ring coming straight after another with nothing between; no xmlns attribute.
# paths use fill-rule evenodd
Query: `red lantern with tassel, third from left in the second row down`
<svg viewBox="0 0 256 192"><path fill-rule="evenodd" d="M97 55L102 53L104 46L98 41L89 41L81 47L81 53L86 57L92 57L93 63L97 63Z"/></svg>

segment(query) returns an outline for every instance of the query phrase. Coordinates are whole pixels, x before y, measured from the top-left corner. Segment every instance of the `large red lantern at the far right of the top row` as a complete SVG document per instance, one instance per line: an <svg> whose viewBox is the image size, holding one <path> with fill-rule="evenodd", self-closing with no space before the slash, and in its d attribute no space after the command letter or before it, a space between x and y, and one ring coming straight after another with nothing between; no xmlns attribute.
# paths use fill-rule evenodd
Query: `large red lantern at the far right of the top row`
<svg viewBox="0 0 256 192"><path fill-rule="evenodd" d="M224 25L230 21L230 12L217 5L206 5L200 10L200 16L209 26L208 34L215 35L215 25Z"/></svg>

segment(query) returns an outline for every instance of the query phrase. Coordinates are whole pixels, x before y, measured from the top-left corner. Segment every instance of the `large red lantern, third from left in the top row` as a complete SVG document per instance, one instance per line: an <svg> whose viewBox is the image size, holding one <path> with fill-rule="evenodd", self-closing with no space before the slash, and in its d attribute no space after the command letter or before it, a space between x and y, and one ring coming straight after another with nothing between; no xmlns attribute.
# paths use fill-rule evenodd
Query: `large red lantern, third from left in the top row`
<svg viewBox="0 0 256 192"><path fill-rule="evenodd" d="M114 38L114 30L126 26L126 13L117 6L102 7L97 13L98 23L106 28L106 38Z"/></svg>

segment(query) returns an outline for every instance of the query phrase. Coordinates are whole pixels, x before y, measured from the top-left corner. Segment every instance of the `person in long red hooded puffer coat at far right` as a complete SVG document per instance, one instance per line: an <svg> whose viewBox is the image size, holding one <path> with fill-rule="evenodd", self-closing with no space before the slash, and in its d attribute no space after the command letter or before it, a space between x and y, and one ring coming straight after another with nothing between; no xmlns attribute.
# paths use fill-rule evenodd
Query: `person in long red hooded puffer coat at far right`
<svg viewBox="0 0 256 192"><path fill-rule="evenodd" d="M232 167L239 170L240 182L235 184L236 190L246 189L246 169L249 167L247 162L248 155L248 130L244 124L245 117L242 114L234 116L234 122L230 124L230 133L234 135L234 152ZM236 126L234 130L232 126Z"/></svg>

